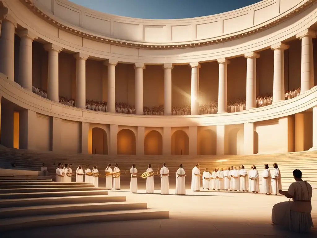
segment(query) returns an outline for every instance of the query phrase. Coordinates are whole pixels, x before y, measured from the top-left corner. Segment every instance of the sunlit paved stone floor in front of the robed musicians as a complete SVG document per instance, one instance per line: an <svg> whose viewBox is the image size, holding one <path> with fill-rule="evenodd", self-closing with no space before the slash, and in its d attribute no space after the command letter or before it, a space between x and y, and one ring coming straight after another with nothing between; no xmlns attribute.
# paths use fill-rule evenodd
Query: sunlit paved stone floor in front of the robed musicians
<svg viewBox="0 0 317 238"><path fill-rule="evenodd" d="M127 188L128 181L122 182L122 187ZM273 205L288 200L283 196L190 189L184 196L175 195L174 189L170 189L170 195L160 195L159 190L148 195L144 185L139 183L138 194L122 189L110 191L109 195L125 195L127 202L147 202L149 208L169 210L170 219L43 227L4 233L1 237L317 237L317 190L312 199L315 227L303 235L271 224ZM155 188L159 189L159 184ZM175 184L170 188L175 188Z"/></svg>

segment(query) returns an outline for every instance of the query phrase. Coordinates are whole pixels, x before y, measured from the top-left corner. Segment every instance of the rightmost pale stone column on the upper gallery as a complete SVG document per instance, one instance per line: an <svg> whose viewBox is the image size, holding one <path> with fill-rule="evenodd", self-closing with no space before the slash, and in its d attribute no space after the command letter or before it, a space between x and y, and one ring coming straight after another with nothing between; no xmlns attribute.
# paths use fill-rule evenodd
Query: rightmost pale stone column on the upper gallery
<svg viewBox="0 0 317 238"><path fill-rule="evenodd" d="M306 29L296 35L301 40L301 93L314 87L313 38L316 32Z"/></svg>

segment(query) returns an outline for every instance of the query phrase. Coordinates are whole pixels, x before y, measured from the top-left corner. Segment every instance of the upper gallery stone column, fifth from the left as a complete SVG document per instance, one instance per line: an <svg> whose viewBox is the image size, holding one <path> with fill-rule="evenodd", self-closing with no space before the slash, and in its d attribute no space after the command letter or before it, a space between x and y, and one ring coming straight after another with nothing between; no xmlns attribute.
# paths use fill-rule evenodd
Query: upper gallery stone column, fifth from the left
<svg viewBox="0 0 317 238"><path fill-rule="evenodd" d="M116 90L115 90L115 66L117 65L117 60L109 59L104 62L108 66L108 100L107 100L107 111L116 112ZM116 152L117 153L117 152Z"/></svg>

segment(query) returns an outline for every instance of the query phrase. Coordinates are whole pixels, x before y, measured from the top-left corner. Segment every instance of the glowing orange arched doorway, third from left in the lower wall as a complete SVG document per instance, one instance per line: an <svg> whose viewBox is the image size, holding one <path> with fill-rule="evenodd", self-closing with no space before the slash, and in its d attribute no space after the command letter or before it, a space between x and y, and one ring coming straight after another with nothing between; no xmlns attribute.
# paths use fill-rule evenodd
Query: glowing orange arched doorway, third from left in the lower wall
<svg viewBox="0 0 317 238"><path fill-rule="evenodd" d="M150 131L144 139L145 155L162 155L163 154L163 137L156 130Z"/></svg>

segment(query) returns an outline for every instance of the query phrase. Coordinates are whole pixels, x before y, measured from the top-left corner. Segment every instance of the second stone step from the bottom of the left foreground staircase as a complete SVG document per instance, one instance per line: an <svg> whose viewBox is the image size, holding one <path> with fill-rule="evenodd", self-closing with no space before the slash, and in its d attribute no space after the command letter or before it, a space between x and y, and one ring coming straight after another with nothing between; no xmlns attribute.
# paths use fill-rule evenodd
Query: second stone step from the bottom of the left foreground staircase
<svg viewBox="0 0 317 238"><path fill-rule="evenodd" d="M23 216L54 215L68 213L86 213L86 212L105 212L146 209L147 203L137 202L100 202L100 203L80 203L80 204L61 204L44 205L31 207L1 208L0 219L14 218Z"/></svg>

